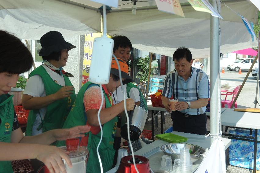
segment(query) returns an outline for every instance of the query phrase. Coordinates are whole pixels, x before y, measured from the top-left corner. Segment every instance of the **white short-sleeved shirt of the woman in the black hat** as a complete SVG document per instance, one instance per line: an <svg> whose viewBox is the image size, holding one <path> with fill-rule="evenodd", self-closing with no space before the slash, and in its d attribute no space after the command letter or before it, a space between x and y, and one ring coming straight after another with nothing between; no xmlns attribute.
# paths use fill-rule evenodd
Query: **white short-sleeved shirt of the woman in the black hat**
<svg viewBox="0 0 260 173"><path fill-rule="evenodd" d="M50 77L56 81L61 86L65 86L65 81L63 76L59 75L58 73L52 71L49 67L47 67L45 64L42 64L43 68L46 69L46 72L50 75ZM39 75L33 75L30 77L27 81L26 87L24 89L24 94L30 95L32 97L45 97L46 92L44 88L44 84L42 82L42 78ZM42 120L44 119L44 116L47 112L47 107L39 109L40 115L42 117ZM40 118L39 114L36 114L36 119L32 127L32 135L37 135L42 133L42 129L39 131L37 128L41 124L42 120Z"/></svg>

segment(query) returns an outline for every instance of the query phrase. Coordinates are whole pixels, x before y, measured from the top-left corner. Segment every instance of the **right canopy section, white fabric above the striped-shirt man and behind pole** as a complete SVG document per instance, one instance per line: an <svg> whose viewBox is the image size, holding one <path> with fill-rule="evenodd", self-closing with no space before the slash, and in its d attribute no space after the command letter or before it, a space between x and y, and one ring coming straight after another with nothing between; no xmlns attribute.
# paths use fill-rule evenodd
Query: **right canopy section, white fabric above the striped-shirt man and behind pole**
<svg viewBox="0 0 260 173"><path fill-rule="evenodd" d="M255 21L258 9L247 1L225 3L248 20ZM210 57L210 14L195 11L192 6L182 7L185 18L163 13L157 9L108 13L108 33L127 36L140 50L172 56L185 46L195 58ZM222 4L220 20L222 53L257 46L241 18ZM113 21L113 22L111 22Z"/></svg>

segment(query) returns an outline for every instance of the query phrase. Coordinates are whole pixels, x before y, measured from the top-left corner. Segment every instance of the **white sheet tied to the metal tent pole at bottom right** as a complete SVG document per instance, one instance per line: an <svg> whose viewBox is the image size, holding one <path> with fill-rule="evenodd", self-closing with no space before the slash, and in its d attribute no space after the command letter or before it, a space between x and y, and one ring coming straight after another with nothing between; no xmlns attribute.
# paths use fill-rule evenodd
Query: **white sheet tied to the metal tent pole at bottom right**
<svg viewBox="0 0 260 173"><path fill-rule="evenodd" d="M221 138L214 140L206 157L203 159L195 173L211 172L226 172L225 144Z"/></svg>

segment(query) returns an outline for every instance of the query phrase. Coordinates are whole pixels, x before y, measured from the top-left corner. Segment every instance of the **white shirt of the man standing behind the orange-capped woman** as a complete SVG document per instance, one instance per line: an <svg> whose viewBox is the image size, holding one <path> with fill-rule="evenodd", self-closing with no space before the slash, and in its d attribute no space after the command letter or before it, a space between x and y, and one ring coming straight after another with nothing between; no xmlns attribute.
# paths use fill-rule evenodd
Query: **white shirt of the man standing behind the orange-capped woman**
<svg viewBox="0 0 260 173"><path fill-rule="evenodd" d="M113 99L113 103L114 104L117 104L117 103L119 103L120 101L123 100L123 98L124 98L123 97L124 96L123 88L124 88L124 90L126 92L126 84L123 85L123 87L120 86L120 87L117 88L117 97L116 97L116 90L114 91L113 94L115 96L115 99L114 99L114 97L112 95L112 99ZM129 91L129 97L132 98L135 103L137 101L140 101L139 90L137 88L131 88L130 91ZM127 94L126 94L126 99L127 99Z"/></svg>

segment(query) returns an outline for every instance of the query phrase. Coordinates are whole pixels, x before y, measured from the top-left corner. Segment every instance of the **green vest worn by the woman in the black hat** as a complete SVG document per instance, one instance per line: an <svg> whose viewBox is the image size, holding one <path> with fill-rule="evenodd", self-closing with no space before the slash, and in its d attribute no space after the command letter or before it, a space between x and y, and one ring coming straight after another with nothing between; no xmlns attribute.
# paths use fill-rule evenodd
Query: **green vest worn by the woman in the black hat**
<svg viewBox="0 0 260 173"><path fill-rule="evenodd" d="M46 69L41 65L31 72L29 78L33 75L40 75L42 78L42 82L44 84L46 96L50 94L56 93L63 86L57 84L53 81L53 79L46 72ZM65 86L73 86L69 80L69 78L63 75ZM52 129L62 128L69 112L71 109L71 105L74 103L76 98L75 91L71 96L63 98L61 100L56 100L53 103L47 106L47 112L42 120L41 125L38 127L38 130L42 128L42 132L46 132ZM39 110L30 110L27 120L27 127L25 136L31 136L32 127L36 119L36 114L39 113Z"/></svg>

